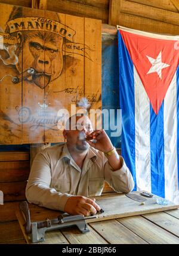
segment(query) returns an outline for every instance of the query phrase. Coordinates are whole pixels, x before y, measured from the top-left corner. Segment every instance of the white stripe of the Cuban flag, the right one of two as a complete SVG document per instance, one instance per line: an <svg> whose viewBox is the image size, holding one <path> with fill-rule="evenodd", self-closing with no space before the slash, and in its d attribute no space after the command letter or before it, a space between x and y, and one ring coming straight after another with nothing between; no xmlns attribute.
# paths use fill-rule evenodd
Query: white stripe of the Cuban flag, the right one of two
<svg viewBox="0 0 179 256"><path fill-rule="evenodd" d="M175 73L163 106L163 136L164 136L164 171L165 198L177 200L178 169L177 169L177 75Z"/></svg>

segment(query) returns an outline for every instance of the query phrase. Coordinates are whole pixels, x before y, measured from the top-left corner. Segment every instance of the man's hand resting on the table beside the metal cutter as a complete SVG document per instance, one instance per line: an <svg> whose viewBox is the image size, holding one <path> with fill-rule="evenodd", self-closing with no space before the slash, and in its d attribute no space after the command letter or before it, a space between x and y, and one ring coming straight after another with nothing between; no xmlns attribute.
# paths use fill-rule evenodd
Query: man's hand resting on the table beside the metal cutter
<svg viewBox="0 0 179 256"><path fill-rule="evenodd" d="M64 211L71 215L88 216L91 213L96 214L100 209L100 206L95 203L95 199L85 198L85 196L71 196L64 206Z"/></svg>

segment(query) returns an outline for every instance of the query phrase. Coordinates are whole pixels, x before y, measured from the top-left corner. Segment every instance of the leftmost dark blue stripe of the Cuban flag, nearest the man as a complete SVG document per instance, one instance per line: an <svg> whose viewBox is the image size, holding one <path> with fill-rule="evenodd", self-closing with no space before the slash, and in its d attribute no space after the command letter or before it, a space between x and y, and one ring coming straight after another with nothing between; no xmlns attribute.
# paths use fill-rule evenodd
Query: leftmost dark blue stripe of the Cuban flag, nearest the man
<svg viewBox="0 0 179 256"><path fill-rule="evenodd" d="M136 190L134 66L119 30L118 45L119 99L122 109L122 156L132 173L135 182L134 190Z"/></svg>

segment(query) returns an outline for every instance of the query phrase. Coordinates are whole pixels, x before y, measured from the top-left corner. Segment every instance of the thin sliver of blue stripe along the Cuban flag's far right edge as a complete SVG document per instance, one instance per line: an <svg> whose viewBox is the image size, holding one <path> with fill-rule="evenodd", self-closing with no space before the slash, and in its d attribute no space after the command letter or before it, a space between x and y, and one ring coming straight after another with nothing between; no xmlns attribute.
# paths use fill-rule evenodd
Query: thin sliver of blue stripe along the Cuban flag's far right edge
<svg viewBox="0 0 179 256"><path fill-rule="evenodd" d="M178 189L179 189L179 66L177 67L177 166L178 166Z"/></svg>

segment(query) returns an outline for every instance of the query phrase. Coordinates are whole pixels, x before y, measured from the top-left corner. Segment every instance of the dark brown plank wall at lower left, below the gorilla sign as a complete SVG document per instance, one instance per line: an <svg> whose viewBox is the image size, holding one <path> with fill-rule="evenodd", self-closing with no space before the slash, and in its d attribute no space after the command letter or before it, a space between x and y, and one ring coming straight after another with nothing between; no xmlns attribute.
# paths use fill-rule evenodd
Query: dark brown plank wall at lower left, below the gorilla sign
<svg viewBox="0 0 179 256"><path fill-rule="evenodd" d="M26 199L29 158L29 152L0 153L0 190L4 193L4 205L0 205L0 243L25 243L15 209Z"/></svg>

